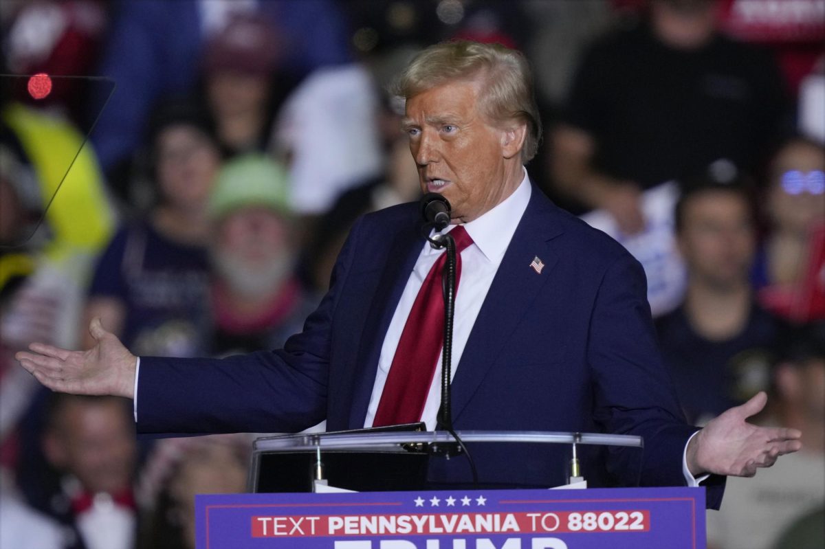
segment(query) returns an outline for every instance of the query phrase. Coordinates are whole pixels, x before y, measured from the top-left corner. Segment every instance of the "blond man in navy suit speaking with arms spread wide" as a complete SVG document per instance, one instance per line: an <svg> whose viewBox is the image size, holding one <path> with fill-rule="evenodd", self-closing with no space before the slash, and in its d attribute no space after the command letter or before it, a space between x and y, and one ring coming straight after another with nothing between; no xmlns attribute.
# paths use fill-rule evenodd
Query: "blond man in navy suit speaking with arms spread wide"
<svg viewBox="0 0 825 549"><path fill-rule="evenodd" d="M520 54L469 42L436 45L411 63L399 92L407 99L403 129L422 190L449 199L447 230L471 239L460 253L455 303L455 429L638 434L645 440L640 480L653 486L695 485L709 474L750 476L799 448L798 431L745 422L764 406L764 394L705 429L681 419L638 262L556 208L526 176L540 122ZM396 350L409 348L407 319L441 253L427 244L420 223L417 204L362 218L328 295L284 350L223 360L137 359L92 321L99 342L92 350L34 344L17 358L54 390L135 398L144 433L385 422L382 397L402 368ZM430 428L439 378L436 368L414 413ZM486 486L563 481L559 448L484 444L473 454ZM629 453L584 458L596 484L636 480L639 463ZM463 460L433 461L434 483L470 481ZM709 491L714 506L718 485Z"/></svg>

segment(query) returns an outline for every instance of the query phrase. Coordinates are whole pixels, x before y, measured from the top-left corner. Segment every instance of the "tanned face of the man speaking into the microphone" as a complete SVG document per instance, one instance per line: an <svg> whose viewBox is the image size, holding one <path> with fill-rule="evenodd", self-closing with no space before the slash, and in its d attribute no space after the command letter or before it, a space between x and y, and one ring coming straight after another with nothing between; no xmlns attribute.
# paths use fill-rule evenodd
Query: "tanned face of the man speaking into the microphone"
<svg viewBox="0 0 825 549"><path fill-rule="evenodd" d="M507 181L505 132L480 112L480 86L446 82L421 92L408 99L402 122L422 191L450 201L453 223L493 209L521 182Z"/></svg>

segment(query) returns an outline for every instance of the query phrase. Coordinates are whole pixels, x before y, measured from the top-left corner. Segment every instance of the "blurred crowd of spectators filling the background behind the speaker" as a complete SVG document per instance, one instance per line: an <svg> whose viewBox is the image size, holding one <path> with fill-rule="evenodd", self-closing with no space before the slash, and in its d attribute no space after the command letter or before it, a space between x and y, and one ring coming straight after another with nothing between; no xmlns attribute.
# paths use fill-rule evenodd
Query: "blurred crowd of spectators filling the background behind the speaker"
<svg viewBox="0 0 825 549"><path fill-rule="evenodd" d="M530 180L642 262L687 419L766 391L756 420L802 429L728 480L709 547L823 547L825 0L6 0L0 26L0 547L194 547L252 435L135 439L130 402L14 352L89 348L93 317L138 355L280 348L356 218L419 197L386 90L453 39L530 59Z"/></svg>

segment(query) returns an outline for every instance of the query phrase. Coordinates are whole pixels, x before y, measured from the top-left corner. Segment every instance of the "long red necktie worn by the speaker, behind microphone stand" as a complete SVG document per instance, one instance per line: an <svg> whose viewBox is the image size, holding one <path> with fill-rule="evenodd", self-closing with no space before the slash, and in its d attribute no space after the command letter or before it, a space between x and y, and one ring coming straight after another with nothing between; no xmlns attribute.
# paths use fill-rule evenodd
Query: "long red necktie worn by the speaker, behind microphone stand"
<svg viewBox="0 0 825 549"><path fill-rule="evenodd" d="M459 225L450 235L455 238L455 291L461 277L461 252L473 239ZM438 355L444 345L444 298L441 291L441 273L446 252L432 265L427 279L413 303L413 310L398 340L393 364L389 368L384 392L375 412L372 425L398 425L421 419L427 393L436 373Z"/></svg>

